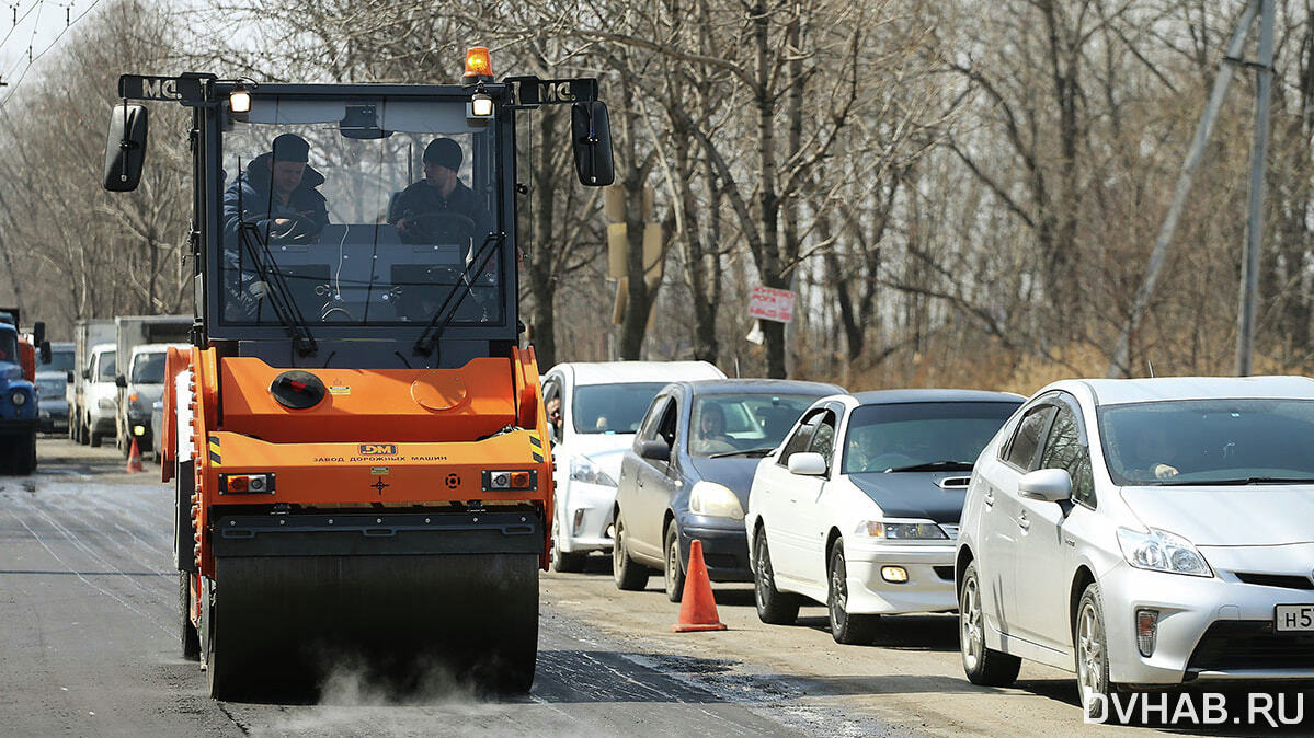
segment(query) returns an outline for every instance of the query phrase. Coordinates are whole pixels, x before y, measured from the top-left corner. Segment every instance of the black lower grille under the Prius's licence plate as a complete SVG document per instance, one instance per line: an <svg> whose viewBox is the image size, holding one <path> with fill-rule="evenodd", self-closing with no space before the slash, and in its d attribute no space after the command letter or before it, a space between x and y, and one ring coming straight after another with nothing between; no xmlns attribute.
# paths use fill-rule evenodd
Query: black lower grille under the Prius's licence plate
<svg viewBox="0 0 1314 738"><path fill-rule="evenodd" d="M1314 664L1314 633L1276 633L1269 620L1219 620L1205 630L1187 671L1303 668Z"/></svg>

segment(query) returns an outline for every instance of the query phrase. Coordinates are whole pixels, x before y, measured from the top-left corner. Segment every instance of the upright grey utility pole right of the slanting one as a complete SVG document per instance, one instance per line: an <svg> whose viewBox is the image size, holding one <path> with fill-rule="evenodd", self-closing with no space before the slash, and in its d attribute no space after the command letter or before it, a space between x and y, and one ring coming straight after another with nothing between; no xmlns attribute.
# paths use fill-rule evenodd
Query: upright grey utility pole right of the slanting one
<svg viewBox="0 0 1314 738"><path fill-rule="evenodd" d="M1240 309L1236 316L1236 376L1248 377L1255 362L1255 311L1259 303L1260 236L1264 232L1264 172L1268 163L1268 113L1273 87L1273 0L1261 0L1259 60L1255 64L1255 150L1250 160L1250 214L1242 260Z"/></svg>

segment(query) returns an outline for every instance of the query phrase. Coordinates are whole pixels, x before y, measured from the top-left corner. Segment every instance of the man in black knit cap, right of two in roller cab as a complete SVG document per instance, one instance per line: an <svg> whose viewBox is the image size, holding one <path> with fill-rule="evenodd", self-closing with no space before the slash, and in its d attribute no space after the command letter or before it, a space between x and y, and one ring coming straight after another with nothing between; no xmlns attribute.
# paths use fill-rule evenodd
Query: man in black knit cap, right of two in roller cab
<svg viewBox="0 0 1314 738"><path fill-rule="evenodd" d="M397 226L402 240L432 243L453 238L469 239L474 247L484 243L494 230L493 217L474 190L456 177L460 169L461 144L435 138L424 147L424 180L398 192L388 209L388 222Z"/></svg>

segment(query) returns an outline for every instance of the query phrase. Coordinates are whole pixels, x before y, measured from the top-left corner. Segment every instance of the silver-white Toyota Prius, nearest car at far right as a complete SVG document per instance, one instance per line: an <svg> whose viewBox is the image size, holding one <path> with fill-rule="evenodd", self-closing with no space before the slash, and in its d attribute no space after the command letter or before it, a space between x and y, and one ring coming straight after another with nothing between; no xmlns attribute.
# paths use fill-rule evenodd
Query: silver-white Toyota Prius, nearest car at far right
<svg viewBox="0 0 1314 738"><path fill-rule="evenodd" d="M1085 380L1028 401L972 473L963 667L1121 688L1314 679L1314 380ZM1277 687L1277 685L1275 685Z"/></svg>

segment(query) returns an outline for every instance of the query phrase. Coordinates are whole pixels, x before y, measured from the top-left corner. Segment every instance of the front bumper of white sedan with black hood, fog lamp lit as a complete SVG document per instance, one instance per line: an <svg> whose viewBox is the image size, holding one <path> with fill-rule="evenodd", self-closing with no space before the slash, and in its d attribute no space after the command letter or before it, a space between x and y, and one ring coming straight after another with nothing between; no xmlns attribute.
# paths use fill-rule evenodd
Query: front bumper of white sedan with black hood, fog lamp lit
<svg viewBox="0 0 1314 738"><path fill-rule="evenodd" d="M943 545L887 544L845 538L849 601L854 615L949 612L958 608L954 592L954 542ZM897 566L907 582L888 582L882 569Z"/></svg>

